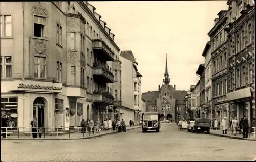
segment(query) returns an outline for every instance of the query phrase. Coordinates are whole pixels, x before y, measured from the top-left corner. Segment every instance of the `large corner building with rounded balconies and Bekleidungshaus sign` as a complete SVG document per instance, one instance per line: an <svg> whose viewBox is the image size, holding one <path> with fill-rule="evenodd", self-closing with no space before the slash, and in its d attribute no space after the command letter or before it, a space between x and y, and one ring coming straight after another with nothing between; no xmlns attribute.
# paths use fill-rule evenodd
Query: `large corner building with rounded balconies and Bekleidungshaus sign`
<svg viewBox="0 0 256 162"><path fill-rule="evenodd" d="M33 117L53 129L108 117L112 61L120 49L95 7L82 1L1 2L0 14L3 114L27 131Z"/></svg>

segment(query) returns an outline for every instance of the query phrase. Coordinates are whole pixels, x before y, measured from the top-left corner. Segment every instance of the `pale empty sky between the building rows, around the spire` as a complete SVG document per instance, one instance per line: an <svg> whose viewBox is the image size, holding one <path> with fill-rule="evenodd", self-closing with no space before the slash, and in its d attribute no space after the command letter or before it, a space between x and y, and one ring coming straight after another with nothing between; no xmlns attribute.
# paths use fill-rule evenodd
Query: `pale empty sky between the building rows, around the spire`
<svg viewBox="0 0 256 162"><path fill-rule="evenodd" d="M142 77L142 92L163 84L167 53L170 84L190 89L199 77L207 33L227 1L89 2L115 34L121 50L131 50Z"/></svg>

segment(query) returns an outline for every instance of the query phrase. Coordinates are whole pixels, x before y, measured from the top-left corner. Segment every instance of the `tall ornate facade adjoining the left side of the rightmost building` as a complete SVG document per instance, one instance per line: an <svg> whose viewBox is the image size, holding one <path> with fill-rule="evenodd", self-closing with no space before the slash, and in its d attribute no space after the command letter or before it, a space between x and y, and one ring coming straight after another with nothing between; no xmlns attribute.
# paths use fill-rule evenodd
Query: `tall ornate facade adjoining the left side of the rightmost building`
<svg viewBox="0 0 256 162"><path fill-rule="evenodd" d="M215 25L208 33L210 37L210 54L212 64L212 115L219 121L227 117L229 121L229 106L227 93L227 32L228 11L222 10L214 20Z"/></svg>

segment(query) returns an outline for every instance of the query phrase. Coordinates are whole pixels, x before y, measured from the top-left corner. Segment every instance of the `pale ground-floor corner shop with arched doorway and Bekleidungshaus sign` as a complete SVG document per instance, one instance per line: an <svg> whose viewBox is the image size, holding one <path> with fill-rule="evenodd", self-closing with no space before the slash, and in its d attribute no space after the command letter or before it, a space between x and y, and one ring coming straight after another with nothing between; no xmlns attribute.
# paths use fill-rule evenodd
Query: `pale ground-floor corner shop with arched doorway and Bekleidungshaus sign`
<svg viewBox="0 0 256 162"><path fill-rule="evenodd" d="M1 81L1 115L6 114L21 132L30 131L33 117L38 127L47 127L48 131L79 126L85 106L86 100L69 96L62 83Z"/></svg>

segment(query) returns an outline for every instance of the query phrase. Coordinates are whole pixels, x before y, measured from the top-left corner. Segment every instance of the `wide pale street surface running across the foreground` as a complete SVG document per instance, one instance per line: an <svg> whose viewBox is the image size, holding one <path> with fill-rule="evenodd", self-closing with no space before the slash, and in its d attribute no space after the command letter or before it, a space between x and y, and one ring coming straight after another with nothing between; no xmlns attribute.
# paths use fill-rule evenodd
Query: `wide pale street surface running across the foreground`
<svg viewBox="0 0 256 162"><path fill-rule="evenodd" d="M159 133L141 129L85 140L2 140L2 161L185 161L252 160L256 141L180 131L162 124Z"/></svg>

